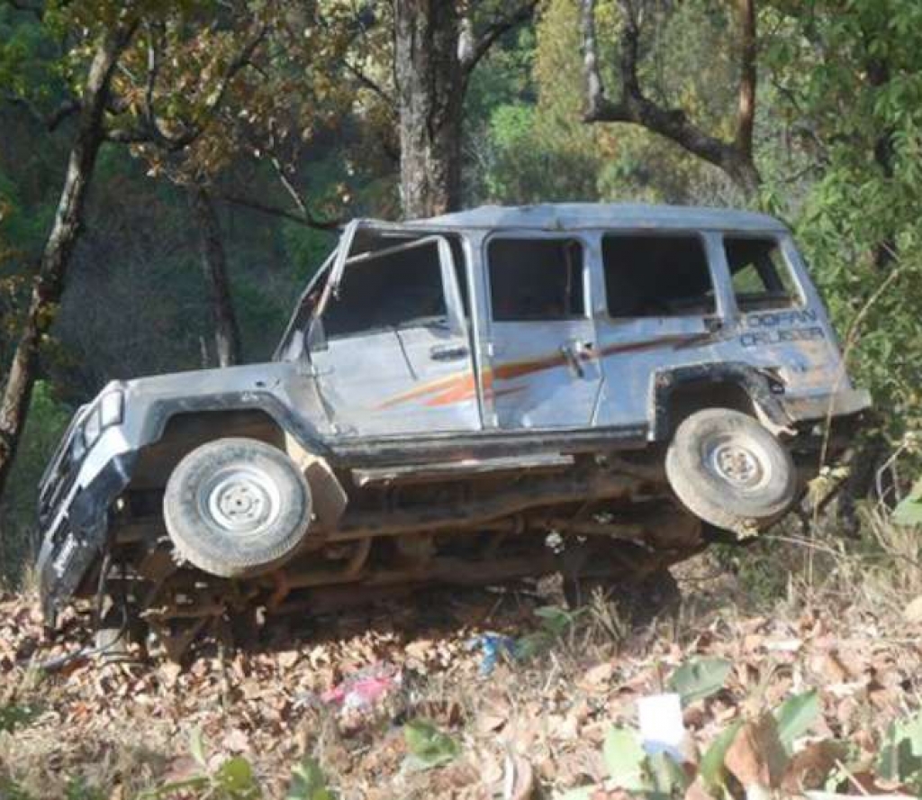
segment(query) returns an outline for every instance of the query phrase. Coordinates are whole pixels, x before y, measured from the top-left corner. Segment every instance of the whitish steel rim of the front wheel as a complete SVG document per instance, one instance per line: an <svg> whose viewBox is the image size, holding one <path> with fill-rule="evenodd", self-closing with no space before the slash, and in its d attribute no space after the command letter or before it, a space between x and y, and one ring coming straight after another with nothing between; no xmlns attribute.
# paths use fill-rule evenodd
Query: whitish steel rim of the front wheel
<svg viewBox="0 0 922 800"><path fill-rule="evenodd" d="M281 512L276 482L263 470L243 465L215 472L197 492L199 512L220 531L253 536Z"/></svg>

